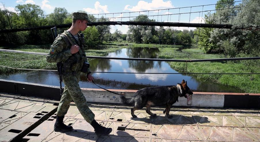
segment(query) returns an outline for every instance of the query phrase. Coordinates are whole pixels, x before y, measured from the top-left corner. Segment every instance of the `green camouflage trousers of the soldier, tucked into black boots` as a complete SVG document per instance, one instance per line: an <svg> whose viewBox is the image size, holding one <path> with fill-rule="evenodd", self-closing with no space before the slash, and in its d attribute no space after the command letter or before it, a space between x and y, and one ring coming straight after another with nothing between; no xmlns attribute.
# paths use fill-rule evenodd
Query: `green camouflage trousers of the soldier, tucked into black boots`
<svg viewBox="0 0 260 142"><path fill-rule="evenodd" d="M69 104L73 100L83 118L91 123L94 120L95 114L88 107L86 98L84 97L79 87L80 71L73 74L63 75L65 84L64 92L62 93L60 104L57 110L57 116L64 116L69 110Z"/></svg>

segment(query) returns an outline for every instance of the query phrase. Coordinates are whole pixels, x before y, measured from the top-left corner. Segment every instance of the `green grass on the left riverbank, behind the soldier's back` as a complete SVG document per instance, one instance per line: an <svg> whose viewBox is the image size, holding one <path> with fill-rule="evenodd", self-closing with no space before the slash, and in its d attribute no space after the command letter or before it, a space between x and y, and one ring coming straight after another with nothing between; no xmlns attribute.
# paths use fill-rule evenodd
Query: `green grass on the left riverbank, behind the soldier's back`
<svg viewBox="0 0 260 142"><path fill-rule="evenodd" d="M0 47L0 49L6 49ZM9 48L10 50L20 50L28 52L48 53L49 49L45 47L35 48L35 46L25 46L18 48ZM115 52L120 47L103 48L102 50L90 49L86 51L87 56L107 56L110 52ZM90 59L91 60L91 59ZM48 63L45 55L31 55L23 53L0 52L0 65L20 69L56 69L56 63ZM6 67L0 67L1 74L15 73L22 70L14 70Z"/></svg>

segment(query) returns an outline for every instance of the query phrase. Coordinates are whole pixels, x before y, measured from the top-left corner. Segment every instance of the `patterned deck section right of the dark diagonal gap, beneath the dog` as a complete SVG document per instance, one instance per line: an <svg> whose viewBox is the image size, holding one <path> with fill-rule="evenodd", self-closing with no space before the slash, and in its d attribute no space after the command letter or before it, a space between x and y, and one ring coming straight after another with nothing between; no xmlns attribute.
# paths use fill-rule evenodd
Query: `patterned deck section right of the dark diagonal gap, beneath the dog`
<svg viewBox="0 0 260 142"><path fill-rule="evenodd" d="M44 141L257 141L260 137L258 110L172 108L173 118L163 114L163 108L152 108L157 114L151 117L145 110L131 107L90 104L95 119L103 126L113 129L109 136L97 137L94 129L71 107L64 121L72 125L73 132L52 132ZM250 112L250 113L249 113ZM253 112L253 113L252 113ZM75 114L78 113L76 116ZM74 116L74 117L72 117ZM50 139L53 137L53 139Z"/></svg>

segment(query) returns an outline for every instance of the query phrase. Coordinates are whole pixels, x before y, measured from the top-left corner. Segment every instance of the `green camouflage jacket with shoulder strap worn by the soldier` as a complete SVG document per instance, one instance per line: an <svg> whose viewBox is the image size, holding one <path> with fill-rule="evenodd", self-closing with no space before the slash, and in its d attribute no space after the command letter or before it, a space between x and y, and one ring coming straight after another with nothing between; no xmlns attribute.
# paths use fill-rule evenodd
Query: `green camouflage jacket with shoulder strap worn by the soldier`
<svg viewBox="0 0 260 142"><path fill-rule="evenodd" d="M79 44L80 49L77 53L71 54L70 47L71 44L69 40L63 34L67 34L74 45ZM72 35L68 31L64 31L64 33L59 34L56 39L54 40L50 51L46 57L47 62L49 63L58 63L63 62L63 74L73 73L75 71L80 71L82 68L83 63L86 61L86 53L83 47L84 38L81 37L79 34L79 41L78 43L74 40ZM89 69L86 72L89 73Z"/></svg>

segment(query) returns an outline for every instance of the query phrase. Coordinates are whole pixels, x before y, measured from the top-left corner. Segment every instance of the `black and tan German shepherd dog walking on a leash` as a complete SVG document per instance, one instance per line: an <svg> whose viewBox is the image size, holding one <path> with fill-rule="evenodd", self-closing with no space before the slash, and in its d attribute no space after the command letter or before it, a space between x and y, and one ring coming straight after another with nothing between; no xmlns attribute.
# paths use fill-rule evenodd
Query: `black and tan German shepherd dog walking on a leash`
<svg viewBox="0 0 260 142"><path fill-rule="evenodd" d="M146 112L151 116L156 116L151 112L151 106L162 106L166 105L166 109L163 111L168 118L172 118L169 115L170 108L172 104L176 101L179 102L179 97L187 98L187 94L192 95L193 92L187 86L187 81L182 80L181 84L177 84L176 86L160 86L160 87L148 87L138 90L132 98L125 98L124 96L120 96L122 102L127 105L133 105L134 107L131 109L131 114L133 117L137 117L134 115L135 110L140 110L144 106L146 106Z"/></svg>

